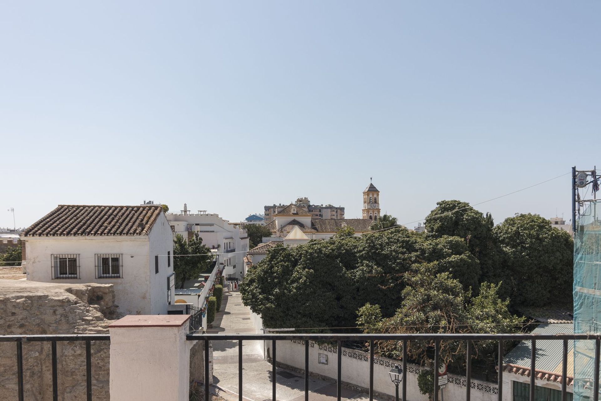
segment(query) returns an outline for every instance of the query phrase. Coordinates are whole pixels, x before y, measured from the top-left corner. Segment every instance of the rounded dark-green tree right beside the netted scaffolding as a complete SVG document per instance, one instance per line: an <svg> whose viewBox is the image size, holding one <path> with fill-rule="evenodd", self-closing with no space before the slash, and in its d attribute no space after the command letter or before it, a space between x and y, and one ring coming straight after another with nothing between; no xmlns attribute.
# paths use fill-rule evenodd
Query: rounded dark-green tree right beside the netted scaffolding
<svg viewBox="0 0 601 401"><path fill-rule="evenodd" d="M574 242L539 215L517 214L493 229L511 303L572 302Z"/></svg>

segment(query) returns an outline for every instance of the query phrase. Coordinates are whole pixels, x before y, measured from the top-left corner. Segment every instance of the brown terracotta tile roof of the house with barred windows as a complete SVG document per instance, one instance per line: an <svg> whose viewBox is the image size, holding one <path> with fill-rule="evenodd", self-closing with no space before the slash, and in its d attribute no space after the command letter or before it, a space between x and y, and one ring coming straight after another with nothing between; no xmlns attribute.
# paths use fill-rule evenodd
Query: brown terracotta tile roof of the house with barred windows
<svg viewBox="0 0 601 401"><path fill-rule="evenodd" d="M162 213L160 205L61 204L23 231L25 237L147 235Z"/></svg>

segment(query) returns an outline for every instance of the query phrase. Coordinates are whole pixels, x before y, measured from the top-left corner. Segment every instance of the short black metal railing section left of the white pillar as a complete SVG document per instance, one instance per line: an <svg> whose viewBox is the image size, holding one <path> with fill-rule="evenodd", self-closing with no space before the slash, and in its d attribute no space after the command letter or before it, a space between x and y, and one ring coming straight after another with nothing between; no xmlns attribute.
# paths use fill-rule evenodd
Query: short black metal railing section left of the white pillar
<svg viewBox="0 0 601 401"><path fill-rule="evenodd" d="M0 342L17 344L17 399L23 396L23 343L34 341L50 341L52 349L52 401L58 401L58 358L56 343L59 341L85 341L85 383L86 399L92 400L92 352L91 341L110 341L108 334L66 334L66 335L0 335Z"/></svg>

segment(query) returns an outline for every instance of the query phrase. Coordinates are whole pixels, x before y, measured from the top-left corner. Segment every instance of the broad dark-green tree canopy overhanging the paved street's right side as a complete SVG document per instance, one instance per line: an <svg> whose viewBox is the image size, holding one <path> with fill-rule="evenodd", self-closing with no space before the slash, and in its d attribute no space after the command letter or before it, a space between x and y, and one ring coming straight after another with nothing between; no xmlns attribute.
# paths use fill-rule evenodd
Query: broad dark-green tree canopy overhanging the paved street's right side
<svg viewBox="0 0 601 401"><path fill-rule="evenodd" d="M269 328L349 326L368 302L392 316L402 301L404 274L419 262L437 262L466 290L478 286L478 263L463 240L426 239L398 227L270 251L249 269L240 291Z"/></svg>

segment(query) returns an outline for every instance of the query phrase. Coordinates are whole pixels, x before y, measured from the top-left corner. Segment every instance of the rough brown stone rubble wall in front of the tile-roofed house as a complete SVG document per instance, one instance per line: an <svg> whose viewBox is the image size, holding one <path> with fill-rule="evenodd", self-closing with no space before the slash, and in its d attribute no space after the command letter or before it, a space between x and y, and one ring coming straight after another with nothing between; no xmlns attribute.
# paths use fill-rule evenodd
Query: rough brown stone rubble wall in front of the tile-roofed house
<svg viewBox="0 0 601 401"><path fill-rule="evenodd" d="M0 280L0 334L108 334L117 319L112 284L55 284ZM93 341L92 394L109 400L110 341ZM58 399L86 399L85 342L60 341ZM50 342L23 343L25 399L52 400ZM0 400L17 399L16 344L0 343Z"/></svg>

